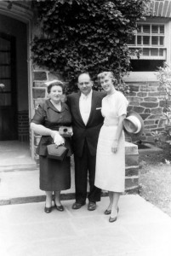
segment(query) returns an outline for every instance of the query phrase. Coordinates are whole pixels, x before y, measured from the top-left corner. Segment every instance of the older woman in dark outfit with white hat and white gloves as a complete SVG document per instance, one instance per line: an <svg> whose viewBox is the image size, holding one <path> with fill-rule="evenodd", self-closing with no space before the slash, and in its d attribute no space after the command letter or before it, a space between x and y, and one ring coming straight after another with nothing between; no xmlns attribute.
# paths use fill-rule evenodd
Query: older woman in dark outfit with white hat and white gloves
<svg viewBox="0 0 171 256"><path fill-rule="evenodd" d="M48 85L48 100L39 105L31 120L31 129L42 135L37 148L40 161L40 189L46 193L44 212L52 211L52 197L54 192L54 206L60 212L64 207L60 202L60 190L71 187L71 138L60 136L59 128L62 125L71 125L71 113L66 103L61 99L64 93L64 84L54 81ZM66 160L59 161L47 158L47 145L53 143L66 144L69 154Z"/></svg>

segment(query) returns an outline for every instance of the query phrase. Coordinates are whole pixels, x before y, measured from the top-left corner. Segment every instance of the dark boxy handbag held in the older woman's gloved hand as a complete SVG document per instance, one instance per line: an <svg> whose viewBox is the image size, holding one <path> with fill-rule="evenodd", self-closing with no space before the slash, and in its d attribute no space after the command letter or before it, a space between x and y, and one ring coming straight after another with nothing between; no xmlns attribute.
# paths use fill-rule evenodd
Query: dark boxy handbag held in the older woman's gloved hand
<svg viewBox="0 0 171 256"><path fill-rule="evenodd" d="M55 160L63 161L68 154L68 148L66 148L64 145L56 146L55 144L50 144L47 146L47 149L47 157Z"/></svg>

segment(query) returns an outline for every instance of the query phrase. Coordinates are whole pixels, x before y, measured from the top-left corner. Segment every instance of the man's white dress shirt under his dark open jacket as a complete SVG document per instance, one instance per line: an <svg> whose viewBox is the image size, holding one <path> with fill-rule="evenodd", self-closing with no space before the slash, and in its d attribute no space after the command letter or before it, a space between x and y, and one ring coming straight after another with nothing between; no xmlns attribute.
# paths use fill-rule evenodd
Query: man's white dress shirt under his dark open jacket
<svg viewBox="0 0 171 256"><path fill-rule="evenodd" d="M80 96L79 108L85 125L88 123L88 118L91 111L92 92L93 90L91 90L87 96L85 96L83 93Z"/></svg>

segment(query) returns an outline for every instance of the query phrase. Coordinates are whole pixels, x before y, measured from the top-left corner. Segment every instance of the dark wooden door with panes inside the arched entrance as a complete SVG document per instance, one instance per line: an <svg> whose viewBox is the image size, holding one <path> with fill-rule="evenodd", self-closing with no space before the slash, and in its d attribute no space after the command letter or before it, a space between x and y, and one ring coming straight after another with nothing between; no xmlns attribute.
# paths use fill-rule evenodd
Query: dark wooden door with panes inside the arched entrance
<svg viewBox="0 0 171 256"><path fill-rule="evenodd" d="M0 32L0 140L17 139L15 38Z"/></svg>

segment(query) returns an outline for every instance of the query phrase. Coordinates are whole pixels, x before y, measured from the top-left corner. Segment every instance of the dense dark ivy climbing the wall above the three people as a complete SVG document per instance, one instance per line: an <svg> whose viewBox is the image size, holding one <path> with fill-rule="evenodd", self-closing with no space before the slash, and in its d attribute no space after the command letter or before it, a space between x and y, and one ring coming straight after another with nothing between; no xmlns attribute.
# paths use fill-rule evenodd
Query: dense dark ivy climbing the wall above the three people
<svg viewBox="0 0 171 256"><path fill-rule="evenodd" d="M59 72L77 90L77 76L93 79L112 71L120 90L122 75L130 69L128 40L136 22L145 16L148 0L34 0L41 36L31 42L37 65ZM97 87L98 85L95 84Z"/></svg>

